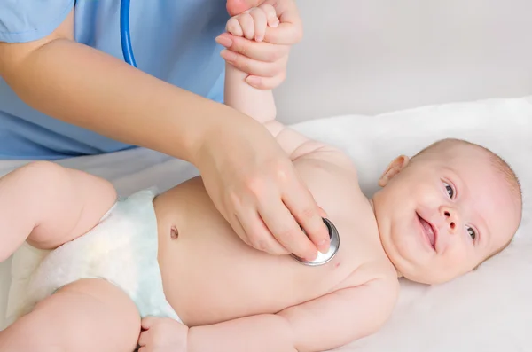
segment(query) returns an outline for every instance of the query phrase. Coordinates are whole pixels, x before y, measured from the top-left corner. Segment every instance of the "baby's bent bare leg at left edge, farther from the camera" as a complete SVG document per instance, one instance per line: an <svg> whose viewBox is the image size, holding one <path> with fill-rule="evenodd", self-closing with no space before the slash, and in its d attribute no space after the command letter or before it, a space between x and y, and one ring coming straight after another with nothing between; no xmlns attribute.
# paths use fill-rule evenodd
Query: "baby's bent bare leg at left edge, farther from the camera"
<svg viewBox="0 0 532 352"><path fill-rule="evenodd" d="M94 227L113 206L113 185L97 176L37 161L0 178L0 262L27 239L52 249Z"/></svg>

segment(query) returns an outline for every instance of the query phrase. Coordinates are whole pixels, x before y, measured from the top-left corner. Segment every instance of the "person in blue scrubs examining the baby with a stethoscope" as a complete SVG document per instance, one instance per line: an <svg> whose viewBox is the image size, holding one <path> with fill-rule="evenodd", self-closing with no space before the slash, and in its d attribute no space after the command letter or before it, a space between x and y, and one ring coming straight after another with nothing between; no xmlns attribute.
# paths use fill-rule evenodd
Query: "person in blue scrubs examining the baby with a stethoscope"
<svg viewBox="0 0 532 352"><path fill-rule="evenodd" d="M301 19L294 0L266 1L281 23L255 43L224 26L265 0L132 0L138 68L123 60L119 0L0 2L0 160L167 153L200 170L246 243L314 259L329 246L325 214L268 131L221 104L223 59L259 89L285 78Z"/></svg>

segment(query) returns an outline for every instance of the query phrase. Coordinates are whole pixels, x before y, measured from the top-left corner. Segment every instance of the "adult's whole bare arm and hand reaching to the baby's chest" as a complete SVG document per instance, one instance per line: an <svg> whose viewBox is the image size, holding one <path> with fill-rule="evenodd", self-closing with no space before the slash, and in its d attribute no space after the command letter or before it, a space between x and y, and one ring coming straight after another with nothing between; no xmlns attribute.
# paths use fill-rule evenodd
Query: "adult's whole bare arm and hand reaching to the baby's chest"
<svg viewBox="0 0 532 352"><path fill-rule="evenodd" d="M192 162L215 207L251 246L314 258L317 246L299 224L316 243L328 238L316 202L268 131L230 106L76 43L73 11L43 39L0 43L0 77L55 119ZM274 246L283 235L285 247Z"/></svg>

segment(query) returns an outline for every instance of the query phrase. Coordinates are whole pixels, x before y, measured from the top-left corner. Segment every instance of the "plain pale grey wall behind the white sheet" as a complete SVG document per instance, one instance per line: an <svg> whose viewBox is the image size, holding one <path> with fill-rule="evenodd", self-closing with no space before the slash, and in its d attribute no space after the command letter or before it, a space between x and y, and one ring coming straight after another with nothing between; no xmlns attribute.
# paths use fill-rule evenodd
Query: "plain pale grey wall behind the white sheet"
<svg viewBox="0 0 532 352"><path fill-rule="evenodd" d="M532 93L532 1L299 0L278 117L297 122Z"/></svg>

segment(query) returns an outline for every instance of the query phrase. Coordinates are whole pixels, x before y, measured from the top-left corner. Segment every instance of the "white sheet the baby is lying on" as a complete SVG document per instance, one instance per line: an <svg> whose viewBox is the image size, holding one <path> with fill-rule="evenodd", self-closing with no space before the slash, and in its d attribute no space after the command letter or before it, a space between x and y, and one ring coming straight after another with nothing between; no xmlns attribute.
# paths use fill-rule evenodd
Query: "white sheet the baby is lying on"
<svg viewBox="0 0 532 352"><path fill-rule="evenodd" d="M403 282L393 317L378 333L340 348L341 352L524 351L532 346L532 97L425 106L375 117L340 116L303 122L295 129L344 148L360 170L364 192L398 153L416 153L442 137L481 143L508 160L525 192L520 231L503 254L479 270L442 286ZM197 175L189 164L146 150L66 160L110 179L124 195L153 184L161 189ZM0 175L20 163L0 162ZM19 252L13 266L23 277L31 258ZM0 266L6 270L7 264ZM0 274L0 313L9 278ZM20 281L18 281L20 282ZM18 296L12 287L12 302ZM0 320L0 325L2 320Z"/></svg>

